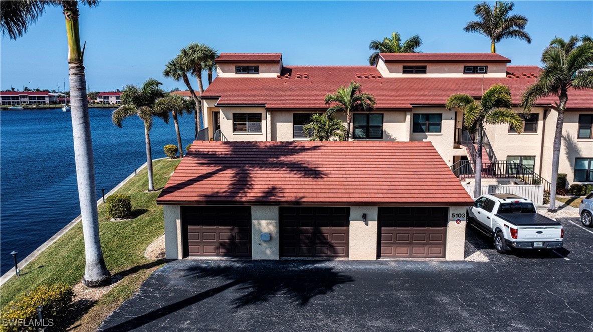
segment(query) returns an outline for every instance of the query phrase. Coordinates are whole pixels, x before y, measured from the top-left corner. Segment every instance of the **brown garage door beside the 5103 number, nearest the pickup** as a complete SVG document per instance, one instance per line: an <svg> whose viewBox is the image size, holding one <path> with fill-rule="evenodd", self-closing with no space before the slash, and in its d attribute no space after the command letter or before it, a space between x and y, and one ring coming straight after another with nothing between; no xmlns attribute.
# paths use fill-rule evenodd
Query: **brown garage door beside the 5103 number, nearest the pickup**
<svg viewBox="0 0 593 332"><path fill-rule="evenodd" d="M379 208L377 257L445 257L447 208Z"/></svg>

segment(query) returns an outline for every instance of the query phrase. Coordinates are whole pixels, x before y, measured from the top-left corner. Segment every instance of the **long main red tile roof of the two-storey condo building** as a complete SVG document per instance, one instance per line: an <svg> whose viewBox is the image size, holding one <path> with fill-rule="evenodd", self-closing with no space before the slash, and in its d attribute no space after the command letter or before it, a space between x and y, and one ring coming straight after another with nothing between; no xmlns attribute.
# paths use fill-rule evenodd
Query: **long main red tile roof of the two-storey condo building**
<svg viewBox="0 0 593 332"><path fill-rule="evenodd" d="M266 105L267 109L327 109L326 94L355 80L362 91L377 99L378 109L411 109L410 105L444 105L452 94L481 96L482 89L498 83L511 88L515 104L535 83L536 66L508 66L506 78L382 78L374 66L285 66L278 78L217 77L203 94L218 105ZM525 73L525 75L523 75ZM534 75L527 75L533 73ZM510 76L509 76L510 75ZM538 103L554 105L557 96ZM568 109L593 109L593 90L569 91Z"/></svg>

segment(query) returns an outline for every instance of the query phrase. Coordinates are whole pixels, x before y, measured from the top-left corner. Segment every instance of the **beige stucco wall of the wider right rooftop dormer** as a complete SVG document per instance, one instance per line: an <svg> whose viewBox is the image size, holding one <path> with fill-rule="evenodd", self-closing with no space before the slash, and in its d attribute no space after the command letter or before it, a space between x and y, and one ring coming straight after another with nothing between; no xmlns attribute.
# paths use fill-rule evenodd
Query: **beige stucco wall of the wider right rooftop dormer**
<svg viewBox="0 0 593 332"><path fill-rule="evenodd" d="M426 74L404 74L403 66L426 66ZM464 74L463 66L488 66L487 74ZM486 78L505 78L506 63L384 63L381 59L377 69L386 78L428 77L428 78L466 78L471 76Z"/></svg>

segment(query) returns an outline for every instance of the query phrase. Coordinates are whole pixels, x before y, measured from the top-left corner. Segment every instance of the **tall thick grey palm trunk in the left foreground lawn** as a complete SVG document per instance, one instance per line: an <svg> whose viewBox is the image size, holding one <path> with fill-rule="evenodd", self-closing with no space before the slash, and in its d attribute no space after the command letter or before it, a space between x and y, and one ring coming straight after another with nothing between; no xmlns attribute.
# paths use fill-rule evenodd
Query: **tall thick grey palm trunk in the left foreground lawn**
<svg viewBox="0 0 593 332"><path fill-rule="evenodd" d="M91 123L88 116L87 79L82 65L83 50L80 47L78 31L78 7L64 5L66 33L68 34L68 66L70 82L70 103L72 136L74 137L74 158L76 182L84 233L84 284L88 287L104 286L110 283L111 274L103 259L99 237L97 214L97 189L95 186L95 164Z"/></svg>

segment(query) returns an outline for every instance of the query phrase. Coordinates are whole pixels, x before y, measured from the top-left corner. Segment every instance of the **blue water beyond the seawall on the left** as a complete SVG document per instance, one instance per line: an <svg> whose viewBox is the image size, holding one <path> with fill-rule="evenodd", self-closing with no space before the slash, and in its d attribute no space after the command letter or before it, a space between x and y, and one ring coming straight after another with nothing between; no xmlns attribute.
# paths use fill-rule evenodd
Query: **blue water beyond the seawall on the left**
<svg viewBox="0 0 593 332"><path fill-rule="evenodd" d="M91 108L97 199L146 162L144 125L138 117L111 123L113 109ZM192 143L193 116L179 118L183 146ZM173 121L155 118L152 157L177 145ZM72 122L61 109L0 112L0 273L12 266L12 250L24 259L80 214Z"/></svg>

